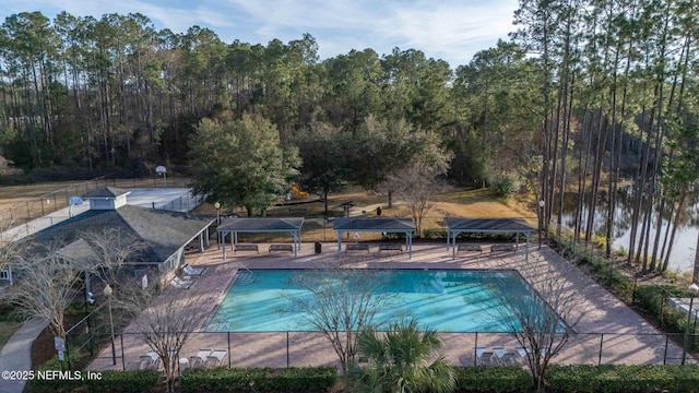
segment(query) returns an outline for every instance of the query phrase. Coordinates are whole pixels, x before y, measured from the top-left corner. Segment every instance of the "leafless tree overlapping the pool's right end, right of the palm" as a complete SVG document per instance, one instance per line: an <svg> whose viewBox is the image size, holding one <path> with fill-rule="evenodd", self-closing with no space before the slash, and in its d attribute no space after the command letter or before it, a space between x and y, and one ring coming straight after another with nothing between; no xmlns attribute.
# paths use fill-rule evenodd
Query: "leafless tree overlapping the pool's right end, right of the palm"
<svg viewBox="0 0 699 393"><path fill-rule="evenodd" d="M540 269L530 277L526 294L510 296L497 308L505 330L526 348L526 366L537 391L544 388L552 359L566 346L585 313L584 299L561 279L559 271Z"/></svg>

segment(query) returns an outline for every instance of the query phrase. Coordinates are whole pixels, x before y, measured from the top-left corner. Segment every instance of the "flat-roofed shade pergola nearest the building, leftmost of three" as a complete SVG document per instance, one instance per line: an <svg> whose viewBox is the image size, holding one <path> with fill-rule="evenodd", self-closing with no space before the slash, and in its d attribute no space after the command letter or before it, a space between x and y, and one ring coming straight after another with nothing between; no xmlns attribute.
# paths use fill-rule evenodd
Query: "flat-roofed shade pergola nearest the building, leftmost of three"
<svg viewBox="0 0 699 393"><path fill-rule="evenodd" d="M223 259L226 260L226 235L232 234L232 245L238 242L238 233L289 233L294 238L294 258L300 247L300 231L304 218L227 218L216 229L223 239Z"/></svg>

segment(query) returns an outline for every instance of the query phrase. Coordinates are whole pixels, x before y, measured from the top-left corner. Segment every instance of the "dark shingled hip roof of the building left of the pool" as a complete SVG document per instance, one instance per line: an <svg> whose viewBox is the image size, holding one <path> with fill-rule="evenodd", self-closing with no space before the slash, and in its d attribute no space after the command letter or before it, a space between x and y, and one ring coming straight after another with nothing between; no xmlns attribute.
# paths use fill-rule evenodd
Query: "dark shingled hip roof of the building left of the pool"
<svg viewBox="0 0 699 393"><path fill-rule="evenodd" d="M146 245L140 255L133 257L138 260L129 262L164 262L214 221L215 217L190 213L125 205L117 210L87 211L40 230L34 237L42 243L71 245L83 233L118 228L125 236L133 236Z"/></svg>

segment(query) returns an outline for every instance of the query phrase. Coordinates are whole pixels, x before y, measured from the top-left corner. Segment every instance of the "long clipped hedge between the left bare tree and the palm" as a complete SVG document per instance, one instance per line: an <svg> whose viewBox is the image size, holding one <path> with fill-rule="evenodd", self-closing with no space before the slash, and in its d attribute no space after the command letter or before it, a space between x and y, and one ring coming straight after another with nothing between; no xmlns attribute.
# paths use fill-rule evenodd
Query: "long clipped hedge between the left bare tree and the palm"
<svg viewBox="0 0 699 393"><path fill-rule="evenodd" d="M187 369L179 377L186 393L327 392L337 382L333 367Z"/></svg>

